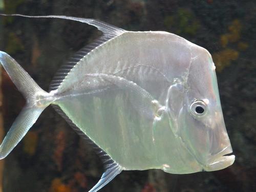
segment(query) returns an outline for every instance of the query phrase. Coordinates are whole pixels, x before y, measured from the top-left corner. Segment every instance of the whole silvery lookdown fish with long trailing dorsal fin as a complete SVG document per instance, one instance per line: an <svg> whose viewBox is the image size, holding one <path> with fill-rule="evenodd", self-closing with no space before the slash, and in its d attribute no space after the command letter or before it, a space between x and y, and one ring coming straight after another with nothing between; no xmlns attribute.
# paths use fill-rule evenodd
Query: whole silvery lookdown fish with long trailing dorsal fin
<svg viewBox="0 0 256 192"><path fill-rule="evenodd" d="M16 14L18 15L18 14ZM27 102L0 146L5 158L48 105L87 139L105 172L90 192L122 170L188 174L234 162L209 52L164 31L133 32L96 19L75 20L103 35L78 51L49 92L7 53L0 62Z"/></svg>

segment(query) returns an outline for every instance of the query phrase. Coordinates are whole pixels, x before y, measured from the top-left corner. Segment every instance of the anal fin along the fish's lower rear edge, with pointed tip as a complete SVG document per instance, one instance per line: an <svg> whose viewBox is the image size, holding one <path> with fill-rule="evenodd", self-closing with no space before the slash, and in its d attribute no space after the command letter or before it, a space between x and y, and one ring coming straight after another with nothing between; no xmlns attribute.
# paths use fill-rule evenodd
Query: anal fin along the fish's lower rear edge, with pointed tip
<svg viewBox="0 0 256 192"><path fill-rule="evenodd" d="M91 190L89 190L89 192L98 191L103 186L108 184L112 179L114 179L118 174L120 174L122 172L122 167L116 163L108 154L106 154L97 144L95 144L86 134L84 134L79 129L79 127L77 127L73 121L60 109L58 105L52 104L52 106L54 110L68 122L74 131L93 147L96 154L102 160L105 171L98 183Z"/></svg>

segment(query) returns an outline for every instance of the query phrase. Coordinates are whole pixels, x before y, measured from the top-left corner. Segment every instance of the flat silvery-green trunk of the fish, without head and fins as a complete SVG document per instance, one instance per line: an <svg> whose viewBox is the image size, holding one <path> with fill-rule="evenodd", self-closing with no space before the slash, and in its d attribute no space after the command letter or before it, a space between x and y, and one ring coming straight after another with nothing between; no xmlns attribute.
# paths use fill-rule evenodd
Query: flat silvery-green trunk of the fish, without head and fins
<svg viewBox="0 0 256 192"><path fill-rule="evenodd" d="M125 32L78 61L52 91L58 98L54 103L124 169L164 168L169 164L172 173L191 172L190 165L177 162L194 158L181 152L185 147L171 129L166 129L167 114L156 121L160 107L152 102L165 106L174 79L182 81L186 75L189 46L190 42L167 32ZM183 53L184 66L173 68L180 58L166 53L177 51ZM143 90L145 93L139 93ZM166 153L166 148L179 150Z"/></svg>

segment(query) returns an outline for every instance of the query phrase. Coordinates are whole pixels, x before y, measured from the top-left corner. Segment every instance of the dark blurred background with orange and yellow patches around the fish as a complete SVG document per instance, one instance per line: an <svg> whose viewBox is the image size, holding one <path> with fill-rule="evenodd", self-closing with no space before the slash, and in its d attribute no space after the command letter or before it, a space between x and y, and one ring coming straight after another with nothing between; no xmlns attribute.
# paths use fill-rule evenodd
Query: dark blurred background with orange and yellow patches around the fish
<svg viewBox="0 0 256 192"><path fill-rule="evenodd" d="M97 18L126 30L168 31L212 54L234 164L188 175L126 171L100 191L256 191L255 1L6 0L2 12ZM59 66L100 35L89 25L69 20L0 17L0 22L0 50L45 90ZM5 72L2 90L1 114L8 131L24 100ZM49 107L5 159L3 191L88 191L102 171L92 148Z"/></svg>

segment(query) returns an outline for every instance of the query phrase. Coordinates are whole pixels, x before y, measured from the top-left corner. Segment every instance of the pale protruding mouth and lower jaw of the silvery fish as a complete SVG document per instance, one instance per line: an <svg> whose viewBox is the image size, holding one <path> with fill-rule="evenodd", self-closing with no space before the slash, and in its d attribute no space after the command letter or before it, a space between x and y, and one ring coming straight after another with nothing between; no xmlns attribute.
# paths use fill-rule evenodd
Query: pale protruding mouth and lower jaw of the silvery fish
<svg viewBox="0 0 256 192"><path fill-rule="evenodd" d="M227 146L217 155L213 156L209 164L205 165L203 169L206 172L211 172L214 170L220 170L223 168L226 168L233 164L235 156L234 155L228 155L232 153L231 146Z"/></svg>

